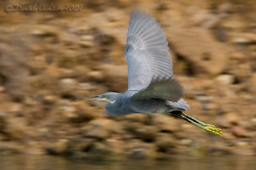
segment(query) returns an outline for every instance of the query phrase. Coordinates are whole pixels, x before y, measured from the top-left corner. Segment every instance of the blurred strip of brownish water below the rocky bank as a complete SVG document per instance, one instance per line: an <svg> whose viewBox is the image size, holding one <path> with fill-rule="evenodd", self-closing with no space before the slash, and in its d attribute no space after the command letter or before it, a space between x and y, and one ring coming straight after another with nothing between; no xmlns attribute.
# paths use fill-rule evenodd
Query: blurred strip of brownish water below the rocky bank
<svg viewBox="0 0 256 170"><path fill-rule="evenodd" d="M84 169L220 169L241 170L256 169L256 157L250 156L205 156L191 157L173 155L168 160L134 160L113 161L70 160L63 157L47 155L12 155L0 156L0 169L4 170L84 170Z"/></svg>

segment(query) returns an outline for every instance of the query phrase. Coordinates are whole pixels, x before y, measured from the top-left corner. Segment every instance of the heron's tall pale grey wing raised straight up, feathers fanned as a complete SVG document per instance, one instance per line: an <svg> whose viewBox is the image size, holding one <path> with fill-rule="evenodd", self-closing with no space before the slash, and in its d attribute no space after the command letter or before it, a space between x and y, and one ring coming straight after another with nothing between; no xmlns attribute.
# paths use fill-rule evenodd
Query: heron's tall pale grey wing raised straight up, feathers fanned
<svg viewBox="0 0 256 170"><path fill-rule="evenodd" d="M125 56L128 90L145 89L157 77L172 80L172 60L160 25L145 12L131 12Z"/></svg>

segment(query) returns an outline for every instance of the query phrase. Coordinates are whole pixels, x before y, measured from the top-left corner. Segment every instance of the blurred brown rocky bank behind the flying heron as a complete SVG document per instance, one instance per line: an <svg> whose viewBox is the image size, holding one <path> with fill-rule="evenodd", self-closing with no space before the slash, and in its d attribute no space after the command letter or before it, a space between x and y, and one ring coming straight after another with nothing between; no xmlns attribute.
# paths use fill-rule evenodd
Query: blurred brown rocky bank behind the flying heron
<svg viewBox="0 0 256 170"><path fill-rule="evenodd" d="M13 11L52 3L68 10ZM6 0L0 7L0 154L256 155L255 0ZM222 138L168 115L111 117L104 102L74 102L127 89L132 10L161 24L187 113L223 129Z"/></svg>

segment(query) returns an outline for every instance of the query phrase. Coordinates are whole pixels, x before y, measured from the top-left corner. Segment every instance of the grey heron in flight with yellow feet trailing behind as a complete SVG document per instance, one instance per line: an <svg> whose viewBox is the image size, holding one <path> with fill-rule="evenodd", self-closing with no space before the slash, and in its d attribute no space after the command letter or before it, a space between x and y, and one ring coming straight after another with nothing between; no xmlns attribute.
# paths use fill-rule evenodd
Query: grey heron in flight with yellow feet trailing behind
<svg viewBox="0 0 256 170"><path fill-rule="evenodd" d="M182 99L182 86L173 78L173 64L168 50L166 36L155 18L145 15L145 12L132 11L125 46L128 90L121 93L107 92L76 101L108 101L105 108L113 116L165 113L221 137L221 129L183 113L190 107Z"/></svg>

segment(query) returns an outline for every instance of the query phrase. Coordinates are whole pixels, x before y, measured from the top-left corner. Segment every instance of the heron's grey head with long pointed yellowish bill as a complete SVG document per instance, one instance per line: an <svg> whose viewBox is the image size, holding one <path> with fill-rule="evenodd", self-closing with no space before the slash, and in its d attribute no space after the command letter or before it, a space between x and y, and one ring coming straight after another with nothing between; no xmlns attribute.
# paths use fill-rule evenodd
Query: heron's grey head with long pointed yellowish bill
<svg viewBox="0 0 256 170"><path fill-rule="evenodd" d="M95 100L95 101L108 101L109 103L115 103L117 97L118 97L118 93L108 92L108 93L100 94L99 96L84 97L81 99L76 99L76 101Z"/></svg>

